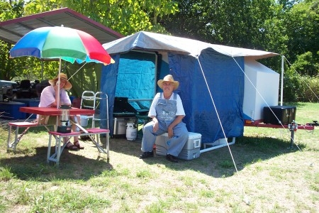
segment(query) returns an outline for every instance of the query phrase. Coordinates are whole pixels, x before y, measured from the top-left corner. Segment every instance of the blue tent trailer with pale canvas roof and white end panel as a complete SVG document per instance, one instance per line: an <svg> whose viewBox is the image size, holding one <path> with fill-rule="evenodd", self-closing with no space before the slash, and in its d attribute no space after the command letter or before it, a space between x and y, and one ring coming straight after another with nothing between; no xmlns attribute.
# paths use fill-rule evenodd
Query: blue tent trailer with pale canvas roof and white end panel
<svg viewBox="0 0 319 213"><path fill-rule="evenodd" d="M103 47L116 61L103 67L101 77L101 90L109 95L110 120L114 97L152 99L160 91L157 80L167 74L180 82L176 92L184 104L184 122L189 131L201 133L204 144L242 136L245 118L262 119L256 117L262 114L257 111L267 104L250 93L248 75L252 75L250 84L266 97L264 101L274 104L276 99L277 104L279 75L256 61L276 53L148 32L135 33ZM265 85L259 89L263 77L271 78L267 87L276 89L265 89Z"/></svg>

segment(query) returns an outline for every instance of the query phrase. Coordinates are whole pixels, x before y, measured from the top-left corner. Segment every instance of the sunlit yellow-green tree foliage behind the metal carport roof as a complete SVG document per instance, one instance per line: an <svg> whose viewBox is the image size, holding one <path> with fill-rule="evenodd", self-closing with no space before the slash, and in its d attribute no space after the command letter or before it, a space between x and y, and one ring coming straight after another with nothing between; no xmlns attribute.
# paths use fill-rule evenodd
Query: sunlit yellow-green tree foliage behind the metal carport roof
<svg viewBox="0 0 319 213"><path fill-rule="evenodd" d="M31 15L62 7L69 7L75 11L94 19L123 35L130 35L137 31L154 31L164 33L164 28L158 19L177 11L176 1L126 1L126 0L84 0L79 4L74 0L30 0L4 1L0 0L0 18L5 21L12 18ZM41 62L36 58L15 58L9 60L11 45L0 40L1 67L0 77L12 80L18 76L28 79L40 79L44 72L45 78L55 75L57 63ZM43 64L43 67L42 67ZM43 71L44 70L44 71Z"/></svg>

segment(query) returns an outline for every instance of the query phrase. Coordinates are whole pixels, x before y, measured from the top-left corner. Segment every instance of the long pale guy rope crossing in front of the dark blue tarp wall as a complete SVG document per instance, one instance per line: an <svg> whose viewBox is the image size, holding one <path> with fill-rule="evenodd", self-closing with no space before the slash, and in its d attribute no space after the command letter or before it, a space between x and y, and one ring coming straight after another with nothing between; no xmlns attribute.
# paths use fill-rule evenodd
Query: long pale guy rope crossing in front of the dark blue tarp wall
<svg viewBox="0 0 319 213"><path fill-rule="evenodd" d="M221 127L221 129L222 129L222 131L223 131L223 135L224 135L225 141L227 141L227 137L226 137L225 131L224 131L224 129L223 129L223 124L222 124L221 121L220 121L220 116L219 116L219 114L218 114L218 111L217 111L217 108L216 108L216 104L215 104L214 99L213 99L213 96L212 96L212 94L211 94L211 89L210 89L209 86L208 86L208 82L207 82L207 80L206 80L206 76L205 76L205 74L204 74L204 72L203 72L203 67L201 66L201 62L199 61L199 58L196 58L196 59L197 59L197 61L198 61L199 67L201 68L201 73L202 73L203 79L204 79L204 81L205 81L205 83L206 83L206 87L207 87L207 89L208 89L209 96L211 97L211 102L213 103L213 107L214 107L214 109L215 109L215 111L216 111L217 118L218 118L220 127ZM232 153L232 151L230 150L229 144L228 144L228 143L226 143L226 144L227 144L227 147L228 147L228 151L229 151L229 153L230 153L230 156L231 156L231 158L232 158L232 160L233 160L233 164L234 164L234 166L235 166L236 175L238 175L238 177L239 177L239 173L238 173L237 166L236 166L236 163L235 163L235 160L234 160L234 157L233 157L233 153ZM242 178L242 180L244 180L244 178ZM243 194L243 197L244 197L244 198L243 198L243 201L244 201L246 204L249 205L249 204L250 204L250 200L248 199L248 197L247 197L247 195L246 195L246 192L245 192L245 190L244 190L244 187L242 186L242 182L240 182L240 187L242 188L242 194Z"/></svg>

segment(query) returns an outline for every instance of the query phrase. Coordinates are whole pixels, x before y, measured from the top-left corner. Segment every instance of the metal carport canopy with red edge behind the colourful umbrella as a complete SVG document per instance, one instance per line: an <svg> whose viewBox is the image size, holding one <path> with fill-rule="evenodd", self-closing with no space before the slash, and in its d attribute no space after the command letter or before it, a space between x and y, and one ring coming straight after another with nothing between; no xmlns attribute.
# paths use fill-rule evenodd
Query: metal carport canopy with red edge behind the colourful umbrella
<svg viewBox="0 0 319 213"><path fill-rule="evenodd" d="M72 9L63 8L2 21L0 23L0 39L16 44L23 35L35 28L62 25L89 33L99 40L101 44L123 38L123 35L103 26L101 23Z"/></svg>

